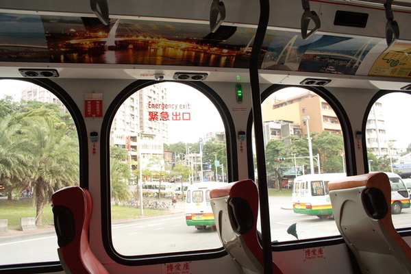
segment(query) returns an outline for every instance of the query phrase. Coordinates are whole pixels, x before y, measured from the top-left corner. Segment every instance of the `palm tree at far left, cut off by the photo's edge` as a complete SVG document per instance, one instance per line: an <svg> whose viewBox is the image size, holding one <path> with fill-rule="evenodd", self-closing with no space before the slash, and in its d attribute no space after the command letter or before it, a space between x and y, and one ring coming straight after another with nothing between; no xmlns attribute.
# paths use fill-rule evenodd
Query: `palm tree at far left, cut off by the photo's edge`
<svg viewBox="0 0 411 274"><path fill-rule="evenodd" d="M12 191L23 187L23 178L27 177L24 167L29 157L21 149L21 134L18 126L12 124L11 116L0 120L0 132L0 181L8 199L12 199Z"/></svg>

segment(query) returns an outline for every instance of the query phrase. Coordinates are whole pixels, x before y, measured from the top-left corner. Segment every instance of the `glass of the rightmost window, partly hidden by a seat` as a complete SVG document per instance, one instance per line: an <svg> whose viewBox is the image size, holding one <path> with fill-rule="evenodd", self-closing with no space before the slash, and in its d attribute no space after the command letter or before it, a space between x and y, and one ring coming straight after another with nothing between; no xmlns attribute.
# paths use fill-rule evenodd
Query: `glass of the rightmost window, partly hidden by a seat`
<svg viewBox="0 0 411 274"><path fill-rule="evenodd" d="M391 212L396 228L410 227L411 95L393 92L377 99L367 117L365 138L369 171L386 172L391 183Z"/></svg>

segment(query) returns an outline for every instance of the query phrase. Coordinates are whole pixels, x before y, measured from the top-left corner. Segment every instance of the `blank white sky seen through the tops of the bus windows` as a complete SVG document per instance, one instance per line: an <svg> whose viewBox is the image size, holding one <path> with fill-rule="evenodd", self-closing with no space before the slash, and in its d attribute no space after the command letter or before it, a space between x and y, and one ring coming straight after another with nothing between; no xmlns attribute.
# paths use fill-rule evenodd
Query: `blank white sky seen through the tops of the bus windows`
<svg viewBox="0 0 411 274"><path fill-rule="evenodd" d="M0 80L0 98L3 95L16 96L20 99L21 90L26 86L25 82L14 80ZM184 109L175 112L190 113L190 120L169 122L169 142L198 142L199 138L207 132L224 131L219 112L210 100L201 92L190 86L166 83L168 101L175 105L186 105ZM305 92L301 88L289 88L286 91L288 97ZM279 96L279 92L276 96ZM388 140L397 140L397 148L406 148L411 143L411 97L401 92L395 92L380 98L384 108L384 119ZM188 108L189 105L189 108Z"/></svg>

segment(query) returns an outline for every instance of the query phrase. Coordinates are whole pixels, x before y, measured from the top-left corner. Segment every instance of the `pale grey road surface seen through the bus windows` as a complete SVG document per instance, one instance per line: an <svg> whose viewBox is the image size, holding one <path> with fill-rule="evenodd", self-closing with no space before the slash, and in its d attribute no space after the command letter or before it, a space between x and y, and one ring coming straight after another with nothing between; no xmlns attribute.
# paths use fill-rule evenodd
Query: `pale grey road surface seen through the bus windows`
<svg viewBox="0 0 411 274"><path fill-rule="evenodd" d="M172 214L115 222L112 225L114 248L125 256L136 256L221 247L219 236L212 227L206 230L188 227L183 209L184 203L180 201ZM270 215L272 240L295 240L286 232L293 223L297 223L299 239L338 234L333 219L322 220L292 212L291 197L270 197ZM409 226L411 209L393 215L393 221L396 227ZM57 248L53 229L0 235L0 265L56 261Z"/></svg>

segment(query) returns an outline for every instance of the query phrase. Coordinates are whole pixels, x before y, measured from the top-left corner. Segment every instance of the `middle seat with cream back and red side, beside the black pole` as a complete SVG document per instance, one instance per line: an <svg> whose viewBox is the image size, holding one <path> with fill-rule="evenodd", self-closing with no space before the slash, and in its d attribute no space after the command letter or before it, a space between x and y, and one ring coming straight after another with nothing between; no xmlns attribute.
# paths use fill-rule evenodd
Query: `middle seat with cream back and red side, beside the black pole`
<svg viewBox="0 0 411 274"><path fill-rule="evenodd" d="M263 251L257 231L258 190L245 179L210 192L220 240L244 273L264 273ZM273 262L273 272L282 273Z"/></svg>

